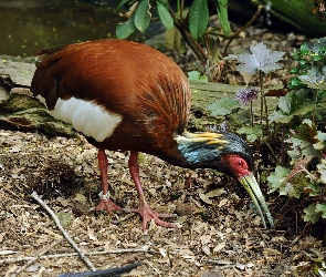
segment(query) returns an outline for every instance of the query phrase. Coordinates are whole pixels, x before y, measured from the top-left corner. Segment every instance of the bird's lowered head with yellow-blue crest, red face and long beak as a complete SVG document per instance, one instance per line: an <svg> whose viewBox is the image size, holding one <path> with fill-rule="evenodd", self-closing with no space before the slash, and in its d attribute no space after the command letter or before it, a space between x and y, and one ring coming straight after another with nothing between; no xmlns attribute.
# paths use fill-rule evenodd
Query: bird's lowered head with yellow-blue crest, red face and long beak
<svg viewBox="0 0 326 277"><path fill-rule="evenodd" d="M233 133L186 133L177 136L178 148L187 166L212 168L239 181L252 198L263 224L262 209L274 227L264 196L253 175L253 155L249 145Z"/></svg>

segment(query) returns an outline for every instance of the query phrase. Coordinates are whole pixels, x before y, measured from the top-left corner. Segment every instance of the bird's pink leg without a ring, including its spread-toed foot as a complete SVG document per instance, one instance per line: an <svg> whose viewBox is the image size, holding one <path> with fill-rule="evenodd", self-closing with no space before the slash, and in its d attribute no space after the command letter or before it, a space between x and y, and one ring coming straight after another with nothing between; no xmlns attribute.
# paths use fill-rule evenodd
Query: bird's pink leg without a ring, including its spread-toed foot
<svg viewBox="0 0 326 277"><path fill-rule="evenodd" d="M139 207L137 209L127 209L125 208L125 212L135 212L135 213L139 213L140 216L143 217L143 229L146 230L147 229L147 223L150 222L151 219L155 220L155 223L157 225L164 226L164 227L176 227L176 224L172 223L167 223L164 222L161 219L159 219L159 217L173 217L175 215L167 215L167 214L159 214L155 211L153 211L144 196L144 192L143 192L143 187L140 184L140 179L139 179L139 166L138 166L138 160L137 160L137 152L132 151L130 152L130 157L129 157L129 162L128 162L128 166L129 166L129 171L130 171L130 175L133 177L133 181L135 183L137 193L138 193L138 197L139 197Z"/></svg>

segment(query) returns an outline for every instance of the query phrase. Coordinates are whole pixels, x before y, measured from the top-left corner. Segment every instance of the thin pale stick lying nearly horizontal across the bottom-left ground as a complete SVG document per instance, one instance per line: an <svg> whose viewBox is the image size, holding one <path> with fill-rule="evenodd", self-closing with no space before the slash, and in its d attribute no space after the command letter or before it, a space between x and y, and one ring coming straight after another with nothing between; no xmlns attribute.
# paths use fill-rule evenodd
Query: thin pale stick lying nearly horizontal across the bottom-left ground
<svg viewBox="0 0 326 277"><path fill-rule="evenodd" d="M91 252L91 253L87 253L87 255L95 256L95 255L107 255L107 254L138 253L138 252L147 253L148 249L149 249L148 246L143 246L140 248L126 248L126 249L115 249L115 250L104 250L104 252ZM77 253L52 254L52 255L40 256L39 259L74 257L77 255L78 255ZM6 259L0 259L0 265L14 264L18 261L31 260L34 257L28 257L28 256L17 257L17 258L6 258Z"/></svg>

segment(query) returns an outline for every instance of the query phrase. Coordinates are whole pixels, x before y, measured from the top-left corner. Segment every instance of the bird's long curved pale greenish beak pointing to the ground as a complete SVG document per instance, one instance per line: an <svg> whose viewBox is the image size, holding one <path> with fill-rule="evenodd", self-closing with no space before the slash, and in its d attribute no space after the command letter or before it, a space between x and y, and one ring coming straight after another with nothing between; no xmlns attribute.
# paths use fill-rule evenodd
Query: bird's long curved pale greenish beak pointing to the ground
<svg viewBox="0 0 326 277"><path fill-rule="evenodd" d="M271 215L271 212L266 205L265 198L262 194L262 191L261 191L254 175L249 174L246 176L240 177L238 181L244 186L244 188L249 193L250 197L252 198L260 216L262 217L264 227L266 228L266 223L265 223L262 209L265 212L265 215L270 222L271 227L274 228L273 217Z"/></svg>

